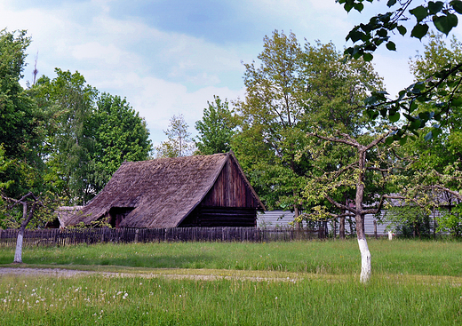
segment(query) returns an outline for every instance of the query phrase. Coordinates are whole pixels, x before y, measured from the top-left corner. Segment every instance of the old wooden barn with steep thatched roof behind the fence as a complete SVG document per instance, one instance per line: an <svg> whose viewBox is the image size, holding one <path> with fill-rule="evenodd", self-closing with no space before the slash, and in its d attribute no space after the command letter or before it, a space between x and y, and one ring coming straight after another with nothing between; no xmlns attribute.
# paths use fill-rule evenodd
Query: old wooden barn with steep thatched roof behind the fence
<svg viewBox="0 0 462 326"><path fill-rule="evenodd" d="M68 226L255 227L264 210L233 153L123 163Z"/></svg>

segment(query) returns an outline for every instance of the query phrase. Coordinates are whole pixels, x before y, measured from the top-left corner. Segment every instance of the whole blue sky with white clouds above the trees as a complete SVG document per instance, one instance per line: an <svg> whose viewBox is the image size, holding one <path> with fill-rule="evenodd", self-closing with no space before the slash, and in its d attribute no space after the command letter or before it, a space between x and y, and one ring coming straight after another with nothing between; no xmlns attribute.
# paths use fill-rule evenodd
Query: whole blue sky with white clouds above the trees
<svg viewBox="0 0 462 326"><path fill-rule="evenodd" d="M126 98L156 146L172 115L183 115L194 135L214 95L244 99L243 63L257 60L275 29L343 51L348 31L384 6L346 13L335 0L2 0L0 29L32 37L24 86L35 61L38 76L78 71L100 92ZM394 42L397 52L373 60L390 94L412 83L408 61L422 51L417 39Z"/></svg>

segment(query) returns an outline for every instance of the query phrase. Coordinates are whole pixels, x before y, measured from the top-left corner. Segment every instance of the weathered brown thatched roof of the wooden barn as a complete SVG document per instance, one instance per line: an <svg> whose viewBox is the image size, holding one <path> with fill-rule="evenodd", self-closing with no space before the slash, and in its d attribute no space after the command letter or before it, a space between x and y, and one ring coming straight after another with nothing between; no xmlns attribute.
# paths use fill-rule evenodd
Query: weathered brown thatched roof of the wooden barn
<svg viewBox="0 0 462 326"><path fill-rule="evenodd" d="M207 195L227 159L237 162L228 153L123 163L100 194L68 221L68 226L90 224L107 216L111 208L134 208L121 227L177 227Z"/></svg>

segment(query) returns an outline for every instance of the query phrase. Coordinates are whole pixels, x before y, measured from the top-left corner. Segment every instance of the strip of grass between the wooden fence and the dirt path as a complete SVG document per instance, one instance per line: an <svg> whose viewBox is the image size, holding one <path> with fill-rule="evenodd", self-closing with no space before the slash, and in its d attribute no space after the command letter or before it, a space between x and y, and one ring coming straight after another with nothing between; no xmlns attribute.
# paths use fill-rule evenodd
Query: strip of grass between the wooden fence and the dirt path
<svg viewBox="0 0 462 326"><path fill-rule="evenodd" d="M374 274L462 275L462 243L414 240L369 241ZM0 249L0 266L12 263ZM208 268L293 273L355 274L360 253L355 240L291 243L132 243L26 248L34 265Z"/></svg>

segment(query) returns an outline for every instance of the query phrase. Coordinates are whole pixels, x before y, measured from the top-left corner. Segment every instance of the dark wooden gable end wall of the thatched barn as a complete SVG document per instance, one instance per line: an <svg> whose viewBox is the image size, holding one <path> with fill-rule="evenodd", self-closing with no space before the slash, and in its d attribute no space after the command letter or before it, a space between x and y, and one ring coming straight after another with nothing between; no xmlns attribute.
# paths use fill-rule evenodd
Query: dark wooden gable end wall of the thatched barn
<svg viewBox="0 0 462 326"><path fill-rule="evenodd" d="M214 185L179 227L255 227L261 202L243 171L228 155Z"/></svg>

